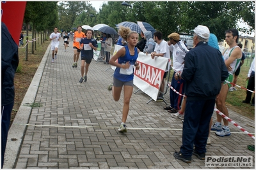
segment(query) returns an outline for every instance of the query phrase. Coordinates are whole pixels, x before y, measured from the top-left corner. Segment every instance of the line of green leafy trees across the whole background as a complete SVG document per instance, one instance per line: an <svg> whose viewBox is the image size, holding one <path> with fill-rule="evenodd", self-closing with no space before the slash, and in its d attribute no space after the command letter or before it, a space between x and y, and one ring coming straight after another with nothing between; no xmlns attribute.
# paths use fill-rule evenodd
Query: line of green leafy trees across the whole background
<svg viewBox="0 0 256 170"><path fill-rule="evenodd" d="M191 33L197 25L206 25L224 38L225 30L238 28L241 18L251 29L240 29L246 33L255 30L255 1L108 1L97 12L90 1L28 1L24 15L26 28L31 25L33 38L36 33L48 38L54 27L60 31L72 31L77 25L108 24L115 27L124 21L143 21L163 32L166 39L171 32ZM28 29L27 29L28 35ZM36 48L36 46L35 46ZM33 52L34 48L32 48Z"/></svg>

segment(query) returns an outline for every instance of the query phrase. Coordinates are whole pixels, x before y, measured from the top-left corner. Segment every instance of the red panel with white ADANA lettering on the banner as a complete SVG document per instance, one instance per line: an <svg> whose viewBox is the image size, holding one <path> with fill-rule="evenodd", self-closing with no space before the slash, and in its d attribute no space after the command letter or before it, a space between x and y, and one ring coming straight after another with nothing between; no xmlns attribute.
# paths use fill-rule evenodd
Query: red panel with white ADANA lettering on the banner
<svg viewBox="0 0 256 170"><path fill-rule="evenodd" d="M164 76L164 70L157 67L150 66L143 62L138 62L140 64L140 69L134 71L134 75L138 76L143 81L146 81L148 84L160 88L161 82Z"/></svg>

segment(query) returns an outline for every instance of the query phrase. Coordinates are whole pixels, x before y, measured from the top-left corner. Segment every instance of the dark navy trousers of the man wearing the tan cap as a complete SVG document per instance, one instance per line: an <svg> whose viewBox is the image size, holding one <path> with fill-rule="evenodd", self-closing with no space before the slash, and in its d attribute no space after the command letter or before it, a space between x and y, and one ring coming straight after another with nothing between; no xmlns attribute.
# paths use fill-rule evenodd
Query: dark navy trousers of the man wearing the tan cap
<svg viewBox="0 0 256 170"><path fill-rule="evenodd" d="M184 94L184 87L185 87L185 81L183 79L175 80L174 75L176 72L173 73L172 76L172 87L173 89L177 90L180 94ZM172 89L170 89L170 103L171 107L175 108L175 110L180 110L180 106L182 103L183 97L174 92Z"/></svg>

